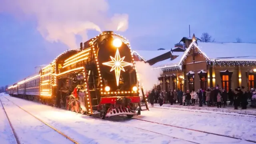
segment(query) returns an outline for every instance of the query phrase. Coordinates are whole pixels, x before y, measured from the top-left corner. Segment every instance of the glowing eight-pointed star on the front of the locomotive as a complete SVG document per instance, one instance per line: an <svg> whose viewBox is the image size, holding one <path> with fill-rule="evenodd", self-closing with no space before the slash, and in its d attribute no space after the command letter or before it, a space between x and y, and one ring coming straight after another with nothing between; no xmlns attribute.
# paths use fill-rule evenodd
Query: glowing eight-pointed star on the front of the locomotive
<svg viewBox="0 0 256 144"><path fill-rule="evenodd" d="M120 58L120 54L119 54L118 48L116 49L115 58L113 58L112 56L110 56L110 58L111 58L112 61L104 62L103 64L106 65L106 66L111 66L112 67L110 72L115 70L116 85L118 86L119 85L119 79L120 79L120 72L121 72L121 70L123 70L125 72L124 67L132 65L132 63L124 62L125 56Z"/></svg>

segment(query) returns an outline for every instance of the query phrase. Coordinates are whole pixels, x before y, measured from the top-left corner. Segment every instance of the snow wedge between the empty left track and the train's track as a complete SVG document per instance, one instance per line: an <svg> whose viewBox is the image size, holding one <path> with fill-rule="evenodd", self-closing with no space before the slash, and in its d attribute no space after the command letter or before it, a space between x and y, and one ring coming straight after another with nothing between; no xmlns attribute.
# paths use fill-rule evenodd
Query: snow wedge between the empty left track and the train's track
<svg viewBox="0 0 256 144"><path fill-rule="evenodd" d="M163 134L156 134L98 118L76 114L37 102L5 96L18 106L70 136L80 144L189 144ZM138 120L137 120L138 121ZM138 121L139 122L139 121ZM145 123L145 122L143 122ZM139 123L136 126L140 125Z"/></svg>

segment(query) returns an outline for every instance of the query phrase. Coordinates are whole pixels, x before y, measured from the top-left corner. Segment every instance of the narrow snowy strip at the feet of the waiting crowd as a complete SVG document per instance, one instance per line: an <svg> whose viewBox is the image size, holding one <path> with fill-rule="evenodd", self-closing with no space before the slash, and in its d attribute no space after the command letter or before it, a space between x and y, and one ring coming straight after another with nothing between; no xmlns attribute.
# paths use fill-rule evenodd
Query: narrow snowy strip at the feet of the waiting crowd
<svg viewBox="0 0 256 144"><path fill-rule="evenodd" d="M180 104L180 103L179 103ZM201 111L201 112L209 112L214 111L213 113L220 113L225 112L225 114L236 114L236 115L243 115L243 114L252 114L256 116L256 108L251 108L248 104L246 110L234 110L234 106L227 106L226 108L217 108L217 107L208 107L206 105L203 105L202 107L198 107L198 104L195 104L195 106L180 106L179 104L163 104L162 107L168 107L176 110L191 110L191 111ZM229 102L228 102L229 104ZM154 104L154 106L160 106L159 104Z"/></svg>

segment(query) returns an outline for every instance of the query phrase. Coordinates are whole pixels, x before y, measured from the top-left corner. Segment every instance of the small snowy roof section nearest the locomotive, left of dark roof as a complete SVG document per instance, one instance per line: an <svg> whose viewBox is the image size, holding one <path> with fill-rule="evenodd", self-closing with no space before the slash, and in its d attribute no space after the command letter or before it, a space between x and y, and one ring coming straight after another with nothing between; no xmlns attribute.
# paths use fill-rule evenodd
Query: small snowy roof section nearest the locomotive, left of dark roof
<svg viewBox="0 0 256 144"><path fill-rule="evenodd" d="M139 56L144 58L145 60L150 60L166 52L170 52L170 50L134 50L132 54L136 52Z"/></svg>

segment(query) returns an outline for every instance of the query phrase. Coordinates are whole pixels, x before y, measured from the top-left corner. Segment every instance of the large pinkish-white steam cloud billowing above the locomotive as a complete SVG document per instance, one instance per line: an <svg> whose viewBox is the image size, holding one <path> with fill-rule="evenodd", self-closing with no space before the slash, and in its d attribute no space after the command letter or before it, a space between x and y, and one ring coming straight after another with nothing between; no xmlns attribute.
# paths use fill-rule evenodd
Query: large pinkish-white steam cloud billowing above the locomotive
<svg viewBox="0 0 256 144"><path fill-rule="evenodd" d="M20 20L35 18L37 30L50 42L62 42L78 48L76 35L88 40L86 30L125 31L127 14L107 16L106 0L1 0L0 12L13 14Z"/></svg>

